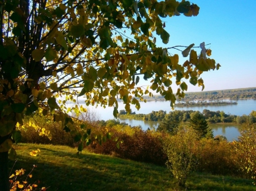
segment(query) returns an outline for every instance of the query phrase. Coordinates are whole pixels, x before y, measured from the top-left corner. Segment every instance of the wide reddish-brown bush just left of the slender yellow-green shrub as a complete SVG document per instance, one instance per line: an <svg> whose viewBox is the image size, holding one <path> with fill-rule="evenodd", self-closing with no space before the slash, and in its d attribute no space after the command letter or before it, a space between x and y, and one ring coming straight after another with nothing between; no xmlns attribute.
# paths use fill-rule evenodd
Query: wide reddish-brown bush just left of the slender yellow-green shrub
<svg viewBox="0 0 256 191"><path fill-rule="evenodd" d="M166 134L143 131L141 128L120 126L112 128L113 140L99 145L92 143L88 149L98 154L115 155L124 159L164 165L167 158L162 142ZM117 146L117 142L121 143Z"/></svg>

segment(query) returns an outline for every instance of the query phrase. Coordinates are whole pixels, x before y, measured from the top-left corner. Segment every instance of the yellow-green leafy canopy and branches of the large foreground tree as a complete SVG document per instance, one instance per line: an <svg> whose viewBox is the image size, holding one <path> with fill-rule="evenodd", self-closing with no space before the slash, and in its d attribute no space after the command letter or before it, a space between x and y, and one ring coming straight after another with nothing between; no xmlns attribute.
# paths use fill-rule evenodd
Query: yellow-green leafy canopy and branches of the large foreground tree
<svg viewBox="0 0 256 191"><path fill-rule="evenodd" d="M199 7L188 1L0 0L0 8L0 152L10 150L12 158L10 138L19 141L16 127L23 125L24 114L53 116L87 145L93 127L67 114L86 109L68 108L67 101L84 96L86 105L114 107L117 116L119 96L126 111L130 104L139 109L135 97L152 95L149 88L137 86L143 75L152 79L150 89L173 107L172 79L179 86L176 95L184 97L188 86L183 79L204 88L200 75L220 67L208 58L211 50L204 43L199 54L194 44L187 46L182 54L189 58L183 64L177 54L170 56L176 47L155 45L156 36L164 44L170 39L162 18L199 14ZM30 123L38 127L36 121ZM97 133L99 142L109 137Z"/></svg>

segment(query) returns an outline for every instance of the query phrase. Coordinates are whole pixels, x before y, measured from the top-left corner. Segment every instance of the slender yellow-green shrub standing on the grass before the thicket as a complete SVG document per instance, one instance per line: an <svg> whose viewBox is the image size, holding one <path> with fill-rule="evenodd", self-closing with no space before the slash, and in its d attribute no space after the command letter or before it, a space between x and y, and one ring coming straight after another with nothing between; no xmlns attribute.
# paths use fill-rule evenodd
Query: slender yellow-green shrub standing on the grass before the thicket
<svg viewBox="0 0 256 191"><path fill-rule="evenodd" d="M198 159L194 148L198 144L197 134L188 128L180 129L164 141L164 152L168 157L166 164L179 187L184 188L189 174L196 170Z"/></svg>

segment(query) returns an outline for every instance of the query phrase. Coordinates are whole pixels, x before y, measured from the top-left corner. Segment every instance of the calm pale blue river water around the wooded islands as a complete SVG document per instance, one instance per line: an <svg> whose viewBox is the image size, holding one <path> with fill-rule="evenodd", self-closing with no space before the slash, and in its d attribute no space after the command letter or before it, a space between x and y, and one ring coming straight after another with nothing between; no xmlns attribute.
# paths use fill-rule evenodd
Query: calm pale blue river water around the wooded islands
<svg viewBox="0 0 256 191"><path fill-rule="evenodd" d="M227 114L235 114L237 116L242 116L243 114L249 115L251 111L256 111L256 100L255 99L245 99L245 100L223 100L223 101L236 101L238 104L236 105L220 105L220 106L200 106L200 107L177 107L175 110L193 110L203 112L204 109L208 109L209 111L224 111ZM125 109L125 105L122 103L118 103L119 111L121 109ZM171 112L170 102L168 101L151 101L151 102L141 102L141 109L137 111L134 105L131 105L131 109L133 112L148 114L152 111L163 110L167 113ZM106 107L105 109L102 107L89 107L90 111L95 112L98 115L98 118L101 120L110 120L113 119L113 108ZM156 128L158 126L158 122L155 121L139 121L139 120L127 120L127 119L119 119L121 122L126 122L131 126L141 125L143 130ZM228 141L232 141L233 139L237 139L240 135L238 128L241 125L237 124L209 124L210 128L213 130L214 135L224 135Z"/></svg>

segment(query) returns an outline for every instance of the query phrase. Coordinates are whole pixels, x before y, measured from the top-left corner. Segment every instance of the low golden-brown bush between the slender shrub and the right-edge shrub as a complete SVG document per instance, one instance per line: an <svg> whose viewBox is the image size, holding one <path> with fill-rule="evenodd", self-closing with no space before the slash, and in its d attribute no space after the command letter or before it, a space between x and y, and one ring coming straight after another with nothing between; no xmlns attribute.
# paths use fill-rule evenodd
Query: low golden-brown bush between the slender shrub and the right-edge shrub
<svg viewBox="0 0 256 191"><path fill-rule="evenodd" d="M198 158L198 170L217 175L237 175L232 143L214 139L201 139L194 150Z"/></svg>

